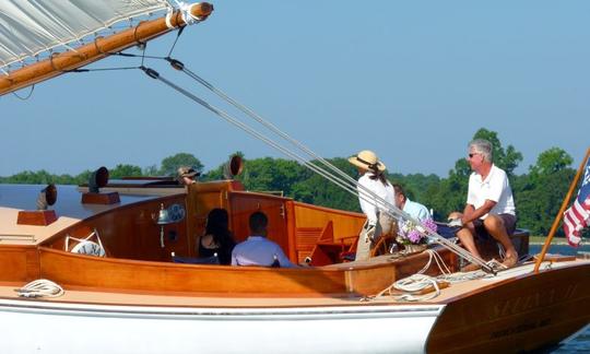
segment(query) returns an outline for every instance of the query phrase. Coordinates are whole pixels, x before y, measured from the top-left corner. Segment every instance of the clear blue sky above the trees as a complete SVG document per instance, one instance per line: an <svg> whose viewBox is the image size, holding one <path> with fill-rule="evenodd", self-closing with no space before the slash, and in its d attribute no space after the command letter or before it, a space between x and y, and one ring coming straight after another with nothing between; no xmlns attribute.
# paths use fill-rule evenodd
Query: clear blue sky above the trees
<svg viewBox="0 0 590 354"><path fill-rule="evenodd" d="M590 146L589 1L213 4L173 57L323 157L373 150L390 173L446 177L480 128L522 153L517 173L553 146L577 167ZM150 42L148 55L165 56L175 37ZM169 67L145 64L249 122ZM26 101L1 96L0 120L0 176L160 166L179 152L204 170L235 151L284 157L139 70L70 73Z"/></svg>

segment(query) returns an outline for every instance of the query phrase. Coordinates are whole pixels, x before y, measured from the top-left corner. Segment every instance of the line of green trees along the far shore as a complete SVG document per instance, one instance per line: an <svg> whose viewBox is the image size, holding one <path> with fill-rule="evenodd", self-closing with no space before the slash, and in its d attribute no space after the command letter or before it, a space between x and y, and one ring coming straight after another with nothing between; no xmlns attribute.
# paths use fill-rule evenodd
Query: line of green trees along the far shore
<svg viewBox="0 0 590 354"><path fill-rule="evenodd" d="M528 172L516 175L515 169L522 162L522 154L512 145L503 146L497 133L480 129L473 139L486 139L494 145L494 163L506 170L510 179L517 205L518 226L528 228L532 235L546 235L557 214L563 199L576 169L571 167L574 160L559 148L542 152L536 163L529 166ZM467 150L467 146L465 146ZM236 152L244 157L244 154ZM331 164L353 178L357 178L356 168L345 157L328 160ZM317 162L312 162L317 163ZM119 164L109 169L111 179L123 176L175 176L178 166L192 166L202 173L199 180L224 178L225 163L203 173L203 164L190 153L178 153L155 165L141 168L139 166ZM23 172L10 177L0 177L2 184L60 184L76 185L88 180L92 172L84 170L76 176L52 175L46 170ZM435 220L445 221L451 211L462 211L467 200L470 166L464 157L457 160L449 169L447 178L423 174L389 174L392 182L400 184L411 200L418 201L434 211ZM359 211L358 200L350 192L341 189L326 178L312 173L299 163L284 158L262 157L244 158L244 170L235 177L247 190L282 192L295 200L337 208ZM588 234L588 231L586 232ZM563 236L559 229L557 236ZM585 235L587 236L587 235Z"/></svg>

